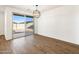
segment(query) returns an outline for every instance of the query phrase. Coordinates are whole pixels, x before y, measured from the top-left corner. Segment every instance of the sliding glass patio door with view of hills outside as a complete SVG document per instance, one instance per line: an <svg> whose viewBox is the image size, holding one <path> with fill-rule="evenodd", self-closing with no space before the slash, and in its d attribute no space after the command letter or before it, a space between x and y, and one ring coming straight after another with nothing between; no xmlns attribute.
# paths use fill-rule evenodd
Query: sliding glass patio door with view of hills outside
<svg viewBox="0 0 79 59"><path fill-rule="evenodd" d="M33 35L34 22L32 16L13 14L13 39Z"/></svg>

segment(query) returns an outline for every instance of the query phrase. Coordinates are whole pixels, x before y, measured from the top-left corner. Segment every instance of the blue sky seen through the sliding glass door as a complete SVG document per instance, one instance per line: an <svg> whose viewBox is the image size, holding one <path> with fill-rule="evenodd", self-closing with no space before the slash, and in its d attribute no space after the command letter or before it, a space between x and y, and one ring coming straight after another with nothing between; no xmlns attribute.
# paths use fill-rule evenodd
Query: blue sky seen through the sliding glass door
<svg viewBox="0 0 79 59"><path fill-rule="evenodd" d="M13 22L20 23L25 21L32 21L32 18L13 15Z"/></svg>

